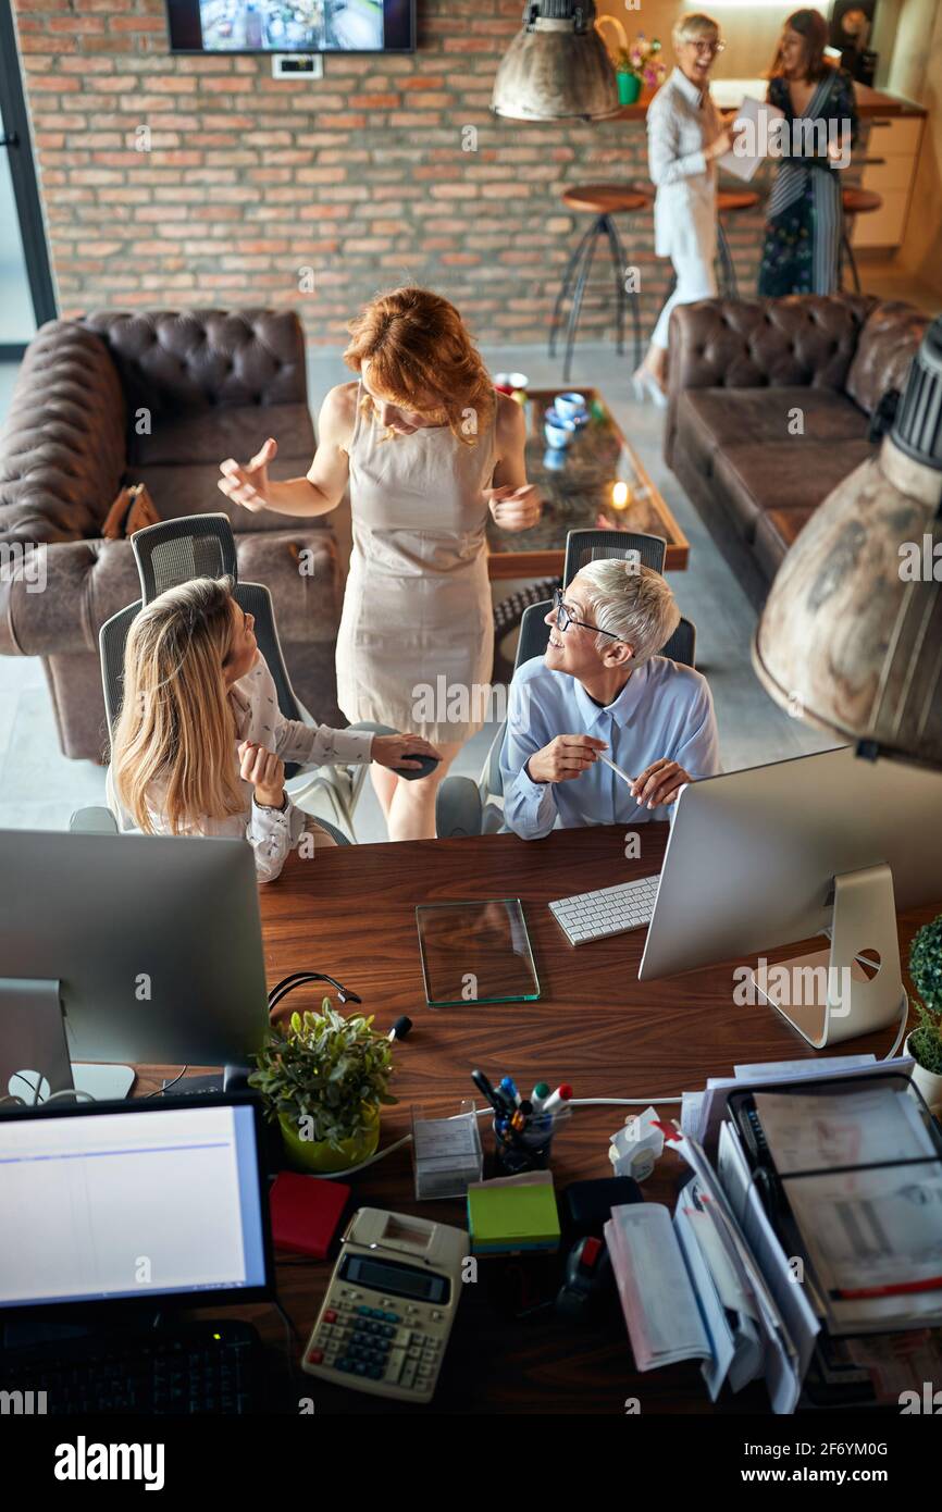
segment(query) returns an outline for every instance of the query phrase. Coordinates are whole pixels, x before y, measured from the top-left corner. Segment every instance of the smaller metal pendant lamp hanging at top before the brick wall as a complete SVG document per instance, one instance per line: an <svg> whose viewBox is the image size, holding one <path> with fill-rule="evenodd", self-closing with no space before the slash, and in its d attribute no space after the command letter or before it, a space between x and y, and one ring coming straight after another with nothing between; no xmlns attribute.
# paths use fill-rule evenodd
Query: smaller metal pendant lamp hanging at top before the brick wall
<svg viewBox="0 0 942 1512"><path fill-rule="evenodd" d="M514 121L602 121L617 115L615 70L596 30L594 0L528 0L491 97Z"/></svg>

